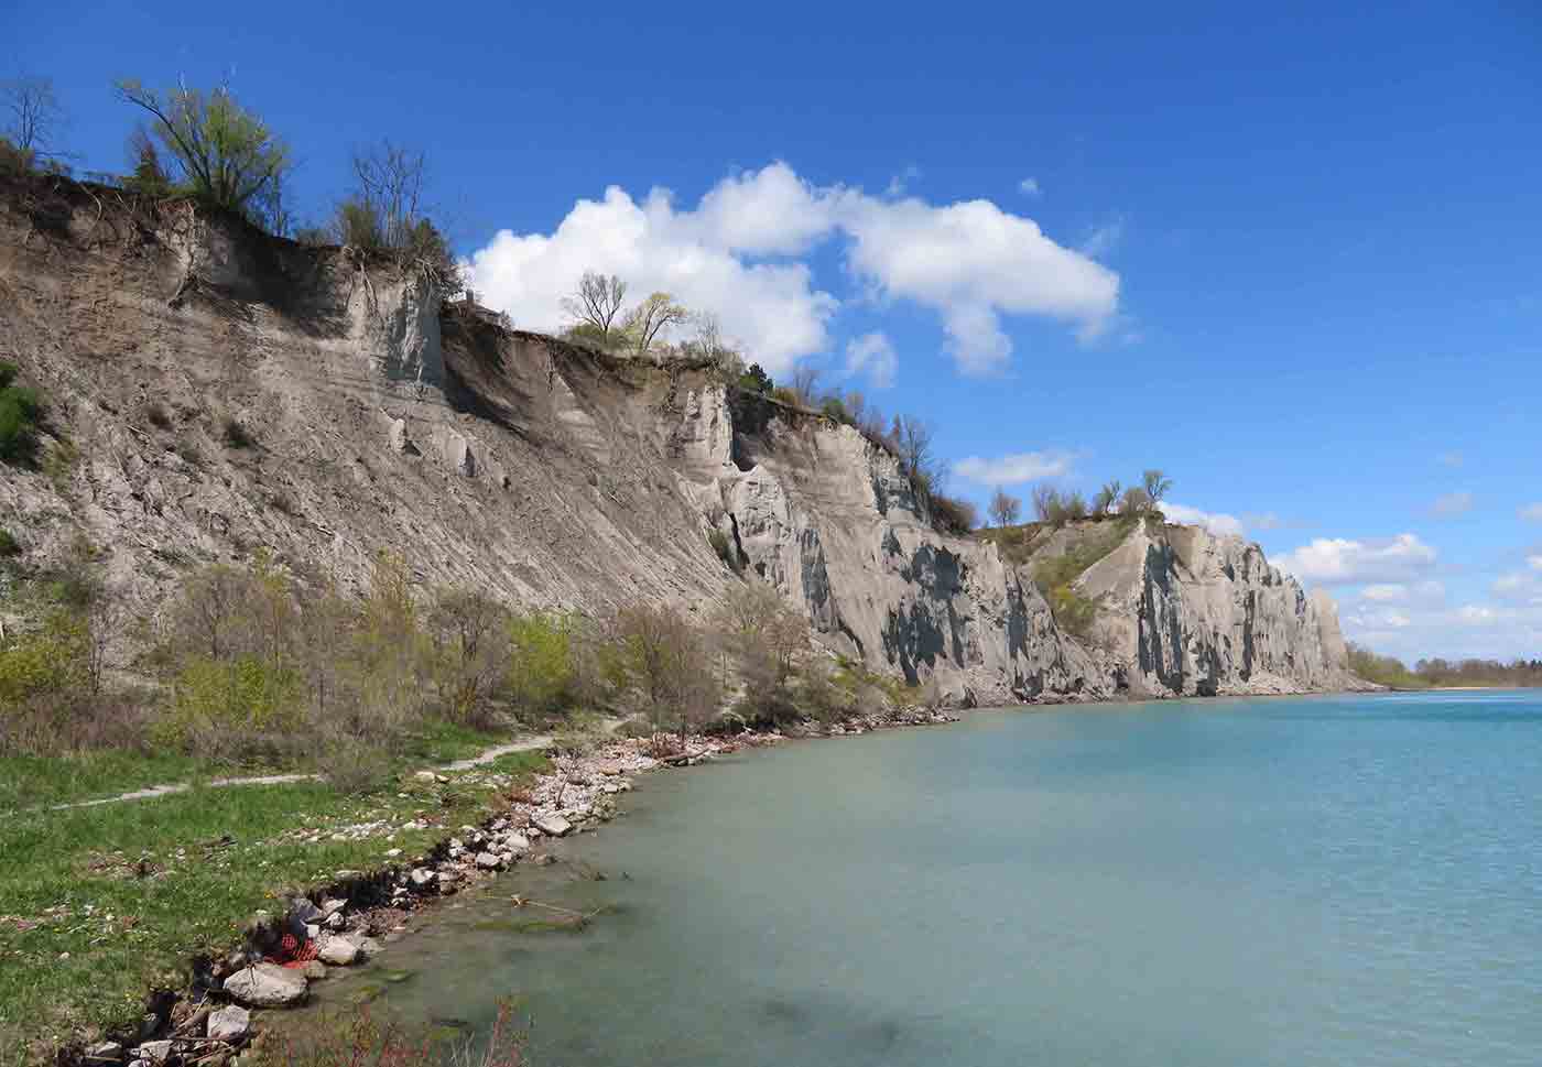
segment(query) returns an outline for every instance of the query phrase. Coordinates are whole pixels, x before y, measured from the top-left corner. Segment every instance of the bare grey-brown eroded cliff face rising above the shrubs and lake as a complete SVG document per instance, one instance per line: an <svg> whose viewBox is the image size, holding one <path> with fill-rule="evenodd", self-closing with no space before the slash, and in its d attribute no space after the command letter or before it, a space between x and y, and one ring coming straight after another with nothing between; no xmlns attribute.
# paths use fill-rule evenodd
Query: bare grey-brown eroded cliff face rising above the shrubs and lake
<svg viewBox="0 0 1542 1067"><path fill-rule="evenodd" d="M820 645L959 703L1348 680L1331 603L1255 546L1136 530L1082 577L1104 611L1081 641L850 427L441 296L187 204L0 188L0 358L74 456L0 469L5 524L37 564L86 537L143 614L256 549L345 584L393 549L526 606L705 614L742 581L715 529Z"/></svg>

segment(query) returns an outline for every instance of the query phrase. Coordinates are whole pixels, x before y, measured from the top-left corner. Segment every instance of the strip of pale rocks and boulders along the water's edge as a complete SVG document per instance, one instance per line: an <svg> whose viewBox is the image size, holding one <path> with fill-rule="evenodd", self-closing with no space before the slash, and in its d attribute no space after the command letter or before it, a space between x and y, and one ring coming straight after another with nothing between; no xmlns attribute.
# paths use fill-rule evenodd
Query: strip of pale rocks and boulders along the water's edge
<svg viewBox="0 0 1542 1067"><path fill-rule="evenodd" d="M66 1044L54 1059L60 1067L239 1067L258 1035L262 1011L304 1004L311 982L333 968L362 964L384 942L401 936L407 913L517 863L555 862L543 851L543 842L614 819L617 796L632 788L637 774L691 766L790 739L956 720L948 711L905 708L830 726L802 723L785 731L726 737L660 734L611 740L578 754L554 754L550 769L529 788L512 793L503 813L481 825L460 826L418 856L387 850L379 870L338 871L325 885L284 897L281 908L258 911L231 951L190 961L193 981L185 988L151 991L137 1032ZM435 771L419 771L418 777L450 782Z"/></svg>

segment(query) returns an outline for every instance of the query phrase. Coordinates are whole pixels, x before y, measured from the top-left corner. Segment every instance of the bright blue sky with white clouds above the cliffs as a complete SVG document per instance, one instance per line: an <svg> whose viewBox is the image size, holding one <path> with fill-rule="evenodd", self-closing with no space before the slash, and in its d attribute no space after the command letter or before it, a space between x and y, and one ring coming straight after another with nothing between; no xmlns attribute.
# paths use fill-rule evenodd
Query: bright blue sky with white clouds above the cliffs
<svg viewBox="0 0 1542 1067"><path fill-rule="evenodd" d="M1542 655L1536 5L530 8L12 0L0 63L93 170L114 77L230 77L313 216L419 145L526 325L584 264L668 284L978 501L1160 466L1351 637Z"/></svg>

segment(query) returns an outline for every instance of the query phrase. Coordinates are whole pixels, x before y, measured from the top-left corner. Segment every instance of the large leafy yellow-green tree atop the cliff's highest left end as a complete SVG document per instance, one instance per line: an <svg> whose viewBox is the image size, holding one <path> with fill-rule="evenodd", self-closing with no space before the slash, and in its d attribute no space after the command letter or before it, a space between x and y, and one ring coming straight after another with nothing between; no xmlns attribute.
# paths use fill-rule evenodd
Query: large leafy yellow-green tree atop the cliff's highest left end
<svg viewBox="0 0 1542 1067"><path fill-rule="evenodd" d="M247 111L227 86L210 93L177 86L165 94L137 80L117 83L125 103L143 108L190 193L210 204L267 220L267 202L293 167L288 145Z"/></svg>

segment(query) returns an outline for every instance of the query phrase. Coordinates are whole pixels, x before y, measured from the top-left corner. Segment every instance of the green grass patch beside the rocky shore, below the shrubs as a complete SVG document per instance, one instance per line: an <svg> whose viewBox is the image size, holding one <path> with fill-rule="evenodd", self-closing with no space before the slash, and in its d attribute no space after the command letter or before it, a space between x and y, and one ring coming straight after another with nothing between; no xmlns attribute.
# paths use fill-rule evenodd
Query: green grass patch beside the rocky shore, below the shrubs
<svg viewBox="0 0 1542 1067"><path fill-rule="evenodd" d="M467 740L424 743L444 752ZM85 763L102 776L97 785L106 782L106 757ZM498 760L497 771L523 780L543 766L538 752L520 752ZM114 791L188 765L150 757L116 769ZM433 785L407 774L370 797L322 783L194 789L0 819L0 1064L23 1062L39 1044L137 1019L146 990L183 985L191 954L231 947L250 914L284 888L392 863L389 848L410 859L480 820L509 788L486 777L480 768ZM293 836L381 819L430 825L365 840Z"/></svg>

